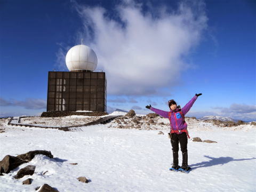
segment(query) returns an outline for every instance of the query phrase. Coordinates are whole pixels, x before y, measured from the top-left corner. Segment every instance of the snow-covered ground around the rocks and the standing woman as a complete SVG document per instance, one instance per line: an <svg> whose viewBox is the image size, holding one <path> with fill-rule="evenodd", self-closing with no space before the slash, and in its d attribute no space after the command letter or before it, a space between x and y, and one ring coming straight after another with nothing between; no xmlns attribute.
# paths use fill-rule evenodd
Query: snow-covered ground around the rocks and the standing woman
<svg viewBox="0 0 256 192"><path fill-rule="evenodd" d="M256 126L223 128L187 119L191 138L218 143L189 140L188 159L193 170L186 174L169 171L172 150L166 120L159 118L164 125L156 123L155 130L117 129L118 123L113 121L70 132L9 126L7 119L2 120L5 132L0 133L0 160L30 150L50 150L54 158L37 155L0 176L0 191L35 191L44 183L70 192L256 191ZM158 134L160 130L164 134ZM35 173L14 179L27 165L35 165ZM79 182L76 178L81 176L91 182ZM31 185L22 185L27 178L33 179Z"/></svg>

